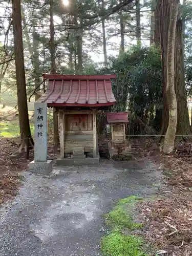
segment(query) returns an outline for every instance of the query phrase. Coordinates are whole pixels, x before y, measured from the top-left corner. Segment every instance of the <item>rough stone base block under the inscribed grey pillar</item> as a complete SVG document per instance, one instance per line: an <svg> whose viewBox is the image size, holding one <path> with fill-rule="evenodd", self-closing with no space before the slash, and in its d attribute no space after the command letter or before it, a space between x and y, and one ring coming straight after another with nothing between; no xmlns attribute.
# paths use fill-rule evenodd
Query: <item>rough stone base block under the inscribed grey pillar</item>
<svg viewBox="0 0 192 256"><path fill-rule="evenodd" d="M47 162L35 162L33 160L29 163L28 169L32 173L49 175L53 170L53 160L47 160Z"/></svg>

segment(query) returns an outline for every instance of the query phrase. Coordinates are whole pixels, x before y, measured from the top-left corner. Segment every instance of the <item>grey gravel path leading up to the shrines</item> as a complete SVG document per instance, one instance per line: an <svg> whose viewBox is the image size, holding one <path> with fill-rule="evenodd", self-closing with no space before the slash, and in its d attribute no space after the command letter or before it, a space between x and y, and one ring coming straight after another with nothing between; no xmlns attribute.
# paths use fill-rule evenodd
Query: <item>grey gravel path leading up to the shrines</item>
<svg viewBox="0 0 192 256"><path fill-rule="evenodd" d="M102 215L120 198L155 193L158 182L150 162L25 173L19 195L0 209L0 256L101 255Z"/></svg>

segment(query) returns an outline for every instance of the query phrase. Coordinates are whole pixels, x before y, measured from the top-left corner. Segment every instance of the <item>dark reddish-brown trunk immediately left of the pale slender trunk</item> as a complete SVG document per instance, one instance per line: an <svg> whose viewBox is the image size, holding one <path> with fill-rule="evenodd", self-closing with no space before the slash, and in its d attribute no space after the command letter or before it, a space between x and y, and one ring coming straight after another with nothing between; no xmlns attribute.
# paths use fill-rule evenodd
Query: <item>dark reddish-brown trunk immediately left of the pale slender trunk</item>
<svg viewBox="0 0 192 256"><path fill-rule="evenodd" d="M163 97L163 113L162 113L162 127L159 137L159 142L162 142L168 126L168 103L166 97L166 59L167 59L167 40L169 28L170 6L168 0L158 0L159 10L159 28L160 28L160 42L161 42L161 60L162 60L162 97Z"/></svg>

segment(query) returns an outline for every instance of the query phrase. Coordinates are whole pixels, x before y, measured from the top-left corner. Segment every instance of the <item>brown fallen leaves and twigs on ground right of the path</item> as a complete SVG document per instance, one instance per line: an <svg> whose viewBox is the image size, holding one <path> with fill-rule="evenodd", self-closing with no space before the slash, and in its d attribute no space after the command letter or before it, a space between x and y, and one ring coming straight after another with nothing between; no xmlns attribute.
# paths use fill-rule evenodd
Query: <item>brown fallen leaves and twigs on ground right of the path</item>
<svg viewBox="0 0 192 256"><path fill-rule="evenodd" d="M137 144L141 150L136 154L145 157L146 145ZM159 249L156 255L192 255L191 143L178 144L176 151L169 155L157 150L154 155L152 148L150 145L147 148L148 156L160 163L159 170L166 183L154 201L139 205L138 211L146 227L144 237Z"/></svg>

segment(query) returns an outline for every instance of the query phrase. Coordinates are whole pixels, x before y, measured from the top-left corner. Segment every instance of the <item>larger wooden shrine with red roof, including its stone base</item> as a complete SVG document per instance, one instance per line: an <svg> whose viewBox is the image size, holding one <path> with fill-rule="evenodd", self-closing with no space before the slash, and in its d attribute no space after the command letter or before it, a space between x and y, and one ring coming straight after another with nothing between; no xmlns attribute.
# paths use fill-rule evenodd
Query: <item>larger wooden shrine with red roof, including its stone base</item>
<svg viewBox="0 0 192 256"><path fill-rule="evenodd" d="M47 91L38 102L47 102L58 112L58 164L93 163L93 158L99 159L96 114L116 102L111 84L116 75L46 74L44 78Z"/></svg>

